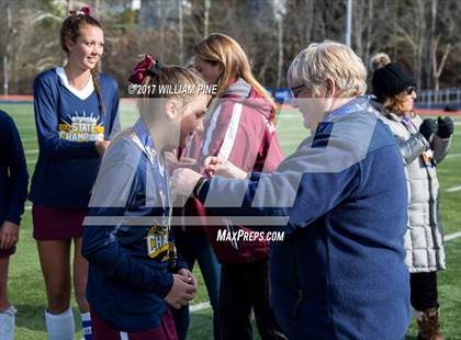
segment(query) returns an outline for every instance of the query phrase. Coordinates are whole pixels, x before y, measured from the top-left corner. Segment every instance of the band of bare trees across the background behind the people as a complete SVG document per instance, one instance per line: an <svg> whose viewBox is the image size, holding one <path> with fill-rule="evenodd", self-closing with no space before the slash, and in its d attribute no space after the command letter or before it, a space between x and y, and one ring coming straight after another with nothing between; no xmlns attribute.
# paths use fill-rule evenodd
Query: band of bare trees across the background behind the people
<svg viewBox="0 0 461 340"><path fill-rule="evenodd" d="M122 83L139 54L183 64L204 35L223 32L243 45L258 80L284 87L291 59L314 41L342 41L346 22L345 1L142 0L136 11L125 0L2 0L0 80L8 73L10 93L30 92L37 72L65 61L59 25L85 2L104 26L103 70ZM352 48L364 61L386 52L419 88L461 82L461 1L353 0L352 25Z"/></svg>

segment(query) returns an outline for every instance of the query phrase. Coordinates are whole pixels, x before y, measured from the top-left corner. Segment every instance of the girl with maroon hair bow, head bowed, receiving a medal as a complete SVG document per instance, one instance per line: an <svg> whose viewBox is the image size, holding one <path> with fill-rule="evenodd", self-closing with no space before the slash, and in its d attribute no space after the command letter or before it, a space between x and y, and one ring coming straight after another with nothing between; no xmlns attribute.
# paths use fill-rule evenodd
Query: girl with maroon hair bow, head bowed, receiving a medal
<svg viewBox="0 0 461 340"><path fill-rule="evenodd" d="M198 72L148 55L130 81L196 91L144 93L139 120L115 137L102 161L82 246L93 339L177 339L169 306L187 305L196 281L175 251L164 152L187 144L210 98L199 90L204 81Z"/></svg>

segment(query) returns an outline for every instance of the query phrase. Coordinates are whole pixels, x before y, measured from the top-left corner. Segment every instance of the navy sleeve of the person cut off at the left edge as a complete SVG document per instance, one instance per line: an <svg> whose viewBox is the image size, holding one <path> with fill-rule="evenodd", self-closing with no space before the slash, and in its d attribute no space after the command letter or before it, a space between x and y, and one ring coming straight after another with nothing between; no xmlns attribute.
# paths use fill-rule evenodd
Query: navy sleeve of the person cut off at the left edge
<svg viewBox="0 0 461 340"><path fill-rule="evenodd" d="M9 220L16 225L27 197L27 166L21 137L13 120L0 110L0 227Z"/></svg>

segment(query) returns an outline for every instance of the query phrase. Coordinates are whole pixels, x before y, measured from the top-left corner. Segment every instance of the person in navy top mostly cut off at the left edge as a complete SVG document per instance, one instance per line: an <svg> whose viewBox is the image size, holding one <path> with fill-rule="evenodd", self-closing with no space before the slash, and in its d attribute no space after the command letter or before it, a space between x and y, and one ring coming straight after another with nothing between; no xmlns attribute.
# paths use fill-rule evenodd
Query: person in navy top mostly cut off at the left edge
<svg viewBox="0 0 461 340"><path fill-rule="evenodd" d="M14 307L8 299L8 264L15 251L27 197L27 167L13 120L0 110L0 339L14 336Z"/></svg>

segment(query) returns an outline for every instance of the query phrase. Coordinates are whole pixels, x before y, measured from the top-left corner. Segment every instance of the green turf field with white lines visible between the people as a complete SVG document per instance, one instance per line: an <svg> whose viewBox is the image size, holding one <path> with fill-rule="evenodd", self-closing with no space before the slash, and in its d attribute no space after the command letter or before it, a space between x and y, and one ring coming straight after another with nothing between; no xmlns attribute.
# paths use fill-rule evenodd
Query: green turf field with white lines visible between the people
<svg viewBox="0 0 461 340"><path fill-rule="evenodd" d="M35 137L33 106L31 104L0 104L0 109L13 116L26 154L29 173L32 175L38 155ZM136 118L133 105L121 106L121 121L128 126ZM441 214L446 235L461 231L461 190L447 191L461 185L461 117L456 121L456 134L449 157L439 166L438 173L441 193ZM295 149L307 135L302 127L301 116L296 111L284 111L279 115L278 132L285 156ZM458 202L458 203L457 203ZM447 242L448 270L439 275L439 294L441 305L441 329L446 339L461 339L461 238ZM199 294L192 304L206 302L207 296L198 270ZM35 242L32 239L31 211L27 202L26 212L21 227L21 240L18 251L10 264L10 297L16 306L15 339L46 339L44 308L45 286L38 264ZM76 306L75 302L72 303ZM75 309L75 315L78 315ZM211 309L192 313L189 339L212 339ZM82 338L79 325L78 337ZM416 339L416 327L413 322L408 330L408 339Z"/></svg>

